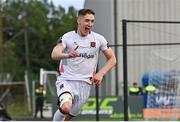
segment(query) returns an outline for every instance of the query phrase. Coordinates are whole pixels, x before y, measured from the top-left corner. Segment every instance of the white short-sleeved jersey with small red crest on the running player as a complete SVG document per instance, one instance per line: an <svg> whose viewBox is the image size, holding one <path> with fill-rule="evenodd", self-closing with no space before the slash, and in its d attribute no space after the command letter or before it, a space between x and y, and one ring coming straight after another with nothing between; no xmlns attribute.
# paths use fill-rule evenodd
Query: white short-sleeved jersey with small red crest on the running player
<svg viewBox="0 0 180 122"><path fill-rule="evenodd" d="M75 31L68 32L61 37L64 52L77 48L78 57L63 59L64 73L59 78L64 80L80 80L91 84L90 78L96 70L100 51L108 48L106 39L95 32L85 37Z"/></svg>

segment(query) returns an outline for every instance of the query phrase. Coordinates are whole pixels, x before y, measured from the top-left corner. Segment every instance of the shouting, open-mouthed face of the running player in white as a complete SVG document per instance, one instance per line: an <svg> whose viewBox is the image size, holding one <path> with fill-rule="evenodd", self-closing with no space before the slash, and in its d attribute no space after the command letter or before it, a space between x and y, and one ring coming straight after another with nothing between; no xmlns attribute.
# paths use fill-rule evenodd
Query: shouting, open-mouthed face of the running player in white
<svg viewBox="0 0 180 122"><path fill-rule="evenodd" d="M85 16L79 16L77 19L78 31L81 36L87 36L94 25L95 17L92 14L86 14Z"/></svg>

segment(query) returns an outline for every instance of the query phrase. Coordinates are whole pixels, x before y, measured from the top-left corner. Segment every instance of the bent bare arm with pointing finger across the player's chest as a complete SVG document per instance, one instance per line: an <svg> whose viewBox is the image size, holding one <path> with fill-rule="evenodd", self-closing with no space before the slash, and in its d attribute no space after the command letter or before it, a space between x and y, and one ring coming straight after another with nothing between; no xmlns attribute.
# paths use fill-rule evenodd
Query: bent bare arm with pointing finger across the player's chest
<svg viewBox="0 0 180 122"><path fill-rule="evenodd" d="M78 56L78 53L76 51L78 47L76 47L75 49L72 49L69 53L65 53L64 52L64 47L62 44L57 44L54 48L53 51L51 53L51 58L53 60L61 60L64 58L74 58L76 56Z"/></svg>

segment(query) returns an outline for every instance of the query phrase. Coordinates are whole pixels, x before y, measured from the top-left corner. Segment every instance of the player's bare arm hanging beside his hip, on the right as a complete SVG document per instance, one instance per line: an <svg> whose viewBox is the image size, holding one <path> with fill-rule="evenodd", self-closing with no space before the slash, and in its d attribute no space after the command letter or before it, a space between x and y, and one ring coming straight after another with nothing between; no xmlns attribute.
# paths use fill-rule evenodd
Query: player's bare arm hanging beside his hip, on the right
<svg viewBox="0 0 180 122"><path fill-rule="evenodd" d="M116 64L116 57L111 48L103 51L107 61L105 65L93 76L93 82L99 85L103 79L103 76Z"/></svg>

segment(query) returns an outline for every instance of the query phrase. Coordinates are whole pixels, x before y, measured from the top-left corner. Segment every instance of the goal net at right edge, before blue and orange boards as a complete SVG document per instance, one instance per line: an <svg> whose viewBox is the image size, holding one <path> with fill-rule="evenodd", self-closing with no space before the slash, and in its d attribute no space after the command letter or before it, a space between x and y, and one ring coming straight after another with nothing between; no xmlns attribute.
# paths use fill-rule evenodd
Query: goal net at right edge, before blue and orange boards
<svg viewBox="0 0 180 122"><path fill-rule="evenodd" d="M180 118L180 52L175 47L154 49L149 56L149 84L144 117L160 120Z"/></svg>

